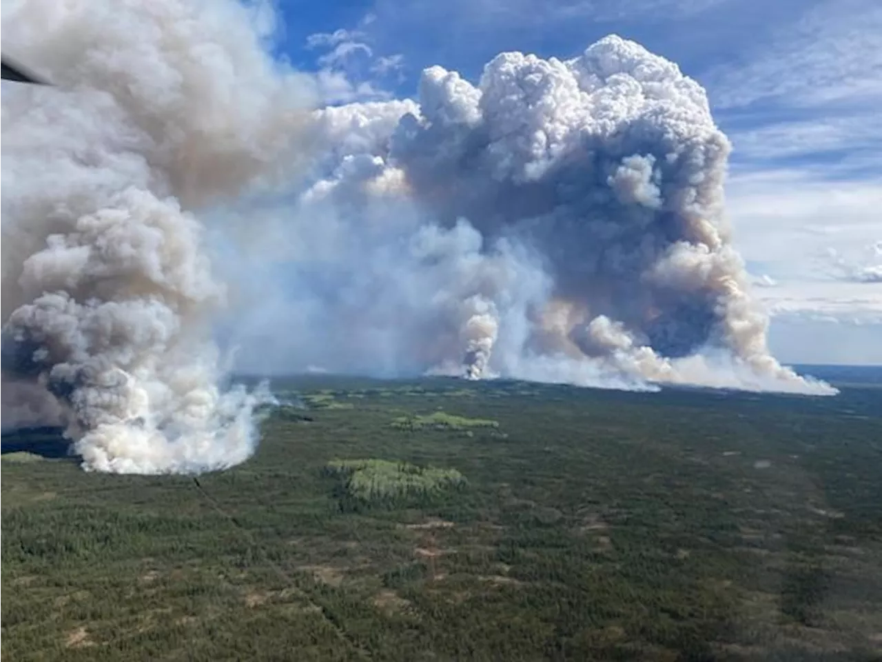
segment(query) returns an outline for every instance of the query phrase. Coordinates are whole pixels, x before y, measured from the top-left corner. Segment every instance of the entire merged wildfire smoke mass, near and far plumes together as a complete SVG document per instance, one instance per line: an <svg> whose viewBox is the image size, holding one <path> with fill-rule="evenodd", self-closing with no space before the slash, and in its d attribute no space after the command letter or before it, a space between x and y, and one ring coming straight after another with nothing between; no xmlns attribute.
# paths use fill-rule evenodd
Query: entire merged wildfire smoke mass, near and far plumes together
<svg viewBox="0 0 882 662"><path fill-rule="evenodd" d="M250 456L268 396L223 387L216 331L248 371L834 392L769 355L729 142L633 42L310 114L263 2L18 0L0 26L58 86L0 90L0 423L64 425L86 469Z"/></svg>

